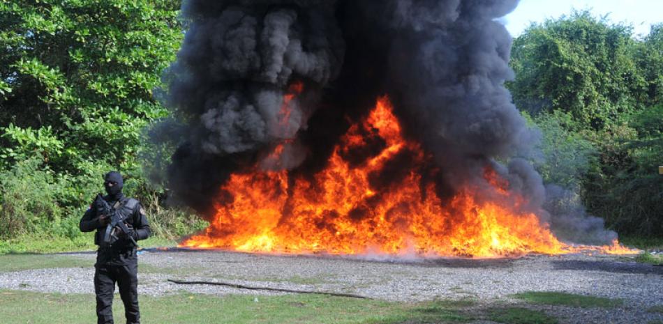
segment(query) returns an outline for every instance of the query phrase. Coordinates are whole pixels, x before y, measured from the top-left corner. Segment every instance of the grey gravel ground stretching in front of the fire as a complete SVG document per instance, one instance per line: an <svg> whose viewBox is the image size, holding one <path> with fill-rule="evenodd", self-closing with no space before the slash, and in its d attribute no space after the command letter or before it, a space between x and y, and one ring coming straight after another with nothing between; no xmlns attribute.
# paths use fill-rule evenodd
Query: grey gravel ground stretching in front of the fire
<svg viewBox="0 0 663 324"><path fill-rule="evenodd" d="M92 253L68 254L94 263ZM563 291L621 298L613 309L532 306L561 323L648 323L663 314L663 267L604 255L524 256L519 259L378 260L337 256L276 256L186 249L149 249L140 255L139 291L275 294L207 285L178 285L167 279L223 281L247 286L353 293L393 301L475 298L477 307L524 304L509 297L523 291ZM52 268L0 273L0 288L93 293L93 268ZM485 323L485 322L482 322Z"/></svg>

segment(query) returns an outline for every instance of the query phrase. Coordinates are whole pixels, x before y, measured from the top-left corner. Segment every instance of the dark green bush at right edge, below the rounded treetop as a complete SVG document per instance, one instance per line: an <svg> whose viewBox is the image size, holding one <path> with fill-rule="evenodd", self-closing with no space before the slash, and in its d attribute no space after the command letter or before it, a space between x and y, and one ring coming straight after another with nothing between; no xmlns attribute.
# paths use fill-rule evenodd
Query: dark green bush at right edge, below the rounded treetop
<svg viewBox="0 0 663 324"><path fill-rule="evenodd" d="M603 215L621 233L663 233L663 105L625 118L611 130L595 134L601 143L599 164L585 182L588 209Z"/></svg>

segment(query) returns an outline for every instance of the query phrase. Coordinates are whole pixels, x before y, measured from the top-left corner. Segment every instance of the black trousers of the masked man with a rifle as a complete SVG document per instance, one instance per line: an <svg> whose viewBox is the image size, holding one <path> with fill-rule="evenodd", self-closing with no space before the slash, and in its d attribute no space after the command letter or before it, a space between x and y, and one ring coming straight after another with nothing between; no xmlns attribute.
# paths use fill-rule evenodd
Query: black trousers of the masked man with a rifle
<svg viewBox="0 0 663 324"><path fill-rule="evenodd" d="M126 265L95 265L94 293L97 296L97 324L114 324L112 314L115 283L124 302L127 324L140 323L138 311L138 260L129 259Z"/></svg>

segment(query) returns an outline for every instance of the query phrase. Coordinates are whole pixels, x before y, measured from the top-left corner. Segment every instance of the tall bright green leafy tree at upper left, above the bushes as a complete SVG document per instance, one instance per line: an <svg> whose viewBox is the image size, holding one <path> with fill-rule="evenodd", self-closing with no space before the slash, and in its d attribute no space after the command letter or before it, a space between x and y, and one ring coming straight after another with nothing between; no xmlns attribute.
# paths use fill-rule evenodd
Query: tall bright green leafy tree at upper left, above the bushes
<svg viewBox="0 0 663 324"><path fill-rule="evenodd" d="M0 2L0 166L38 154L78 175L137 167L183 32L176 0Z"/></svg>

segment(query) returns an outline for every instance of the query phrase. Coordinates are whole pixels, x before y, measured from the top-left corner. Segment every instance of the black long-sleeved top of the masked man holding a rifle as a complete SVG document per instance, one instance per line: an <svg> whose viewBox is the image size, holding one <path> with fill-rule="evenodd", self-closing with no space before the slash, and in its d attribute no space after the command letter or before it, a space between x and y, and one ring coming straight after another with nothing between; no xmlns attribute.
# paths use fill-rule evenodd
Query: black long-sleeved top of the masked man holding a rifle
<svg viewBox="0 0 663 324"><path fill-rule="evenodd" d="M129 229L133 229L133 238L135 240L144 240L151 235L151 229L145 210L139 201L131 198L120 197L118 200L110 199L109 196L103 197L110 206L114 208L126 208L125 213L128 213L125 222ZM94 243L100 245L103 240L103 235L106 226L102 225L99 220L94 203L85 212L80 219L79 227L83 232L91 232L96 230L94 236ZM111 264L127 264L128 262L137 259L136 249L133 243L128 238L120 238L111 247L99 247L97 251L97 263L111 263Z"/></svg>

